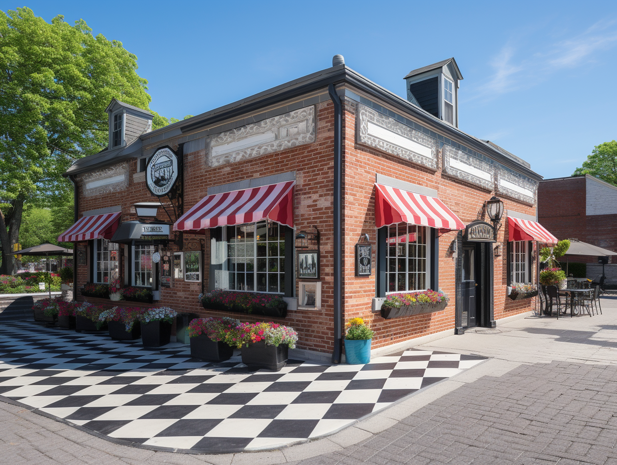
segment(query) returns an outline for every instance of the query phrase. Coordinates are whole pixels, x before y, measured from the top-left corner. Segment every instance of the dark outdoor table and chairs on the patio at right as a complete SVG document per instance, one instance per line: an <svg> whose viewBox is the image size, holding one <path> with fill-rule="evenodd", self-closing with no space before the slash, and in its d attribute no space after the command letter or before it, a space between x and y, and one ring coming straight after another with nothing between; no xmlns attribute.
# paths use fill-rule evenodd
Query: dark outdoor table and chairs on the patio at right
<svg viewBox="0 0 617 465"><path fill-rule="evenodd" d="M570 317L579 314L602 314L600 305L601 284L590 282L586 278L568 278L565 288L557 286L540 285L540 309L544 308L544 314L553 315L553 305L557 310L557 319L560 314Z"/></svg>

